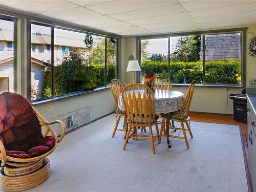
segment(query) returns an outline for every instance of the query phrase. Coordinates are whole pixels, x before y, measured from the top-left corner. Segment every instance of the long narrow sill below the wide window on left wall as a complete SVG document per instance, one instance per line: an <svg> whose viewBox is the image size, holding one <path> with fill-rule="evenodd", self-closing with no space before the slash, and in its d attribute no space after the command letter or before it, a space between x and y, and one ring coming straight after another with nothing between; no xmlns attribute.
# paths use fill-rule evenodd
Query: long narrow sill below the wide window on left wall
<svg viewBox="0 0 256 192"><path fill-rule="evenodd" d="M98 92L101 90L106 90L106 89L110 89L110 86L96 88L92 91L78 91L78 92L74 92L74 93L68 93L66 95L60 95L60 96L56 96L56 97L47 98L47 99L35 100L35 101L32 101L31 103L33 106L36 106L36 105L40 105L40 104L44 104L44 103L48 103L48 102L52 102L52 101L58 101L60 99L65 99L65 98L74 97L74 96L78 96L78 95L86 95L86 94L90 94L90 93L95 93L95 92Z"/></svg>

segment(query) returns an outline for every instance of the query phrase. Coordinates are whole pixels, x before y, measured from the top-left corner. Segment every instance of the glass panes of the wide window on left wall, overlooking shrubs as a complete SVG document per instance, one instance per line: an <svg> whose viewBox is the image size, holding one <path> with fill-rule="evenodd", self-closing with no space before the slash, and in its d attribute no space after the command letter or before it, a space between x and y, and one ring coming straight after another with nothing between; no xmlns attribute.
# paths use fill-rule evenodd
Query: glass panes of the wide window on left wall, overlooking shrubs
<svg viewBox="0 0 256 192"><path fill-rule="evenodd" d="M31 50L32 100L106 87L116 77L116 38L91 34L92 47L88 48L86 32L39 24L31 28L31 44L35 45ZM37 43L38 49L43 46L46 51L39 53ZM43 64L35 66L33 58Z"/></svg>

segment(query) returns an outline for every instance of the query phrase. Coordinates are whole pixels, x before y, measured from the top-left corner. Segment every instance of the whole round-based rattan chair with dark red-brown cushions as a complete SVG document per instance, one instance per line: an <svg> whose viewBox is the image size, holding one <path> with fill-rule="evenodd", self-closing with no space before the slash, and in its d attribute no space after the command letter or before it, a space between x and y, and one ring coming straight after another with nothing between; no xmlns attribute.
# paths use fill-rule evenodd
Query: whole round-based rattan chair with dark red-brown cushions
<svg viewBox="0 0 256 192"><path fill-rule="evenodd" d="M50 126L55 123L61 125L60 137ZM42 126L46 127L44 134ZM0 94L0 188L22 191L46 181L50 175L46 157L64 135L62 121L46 121L22 95Z"/></svg>

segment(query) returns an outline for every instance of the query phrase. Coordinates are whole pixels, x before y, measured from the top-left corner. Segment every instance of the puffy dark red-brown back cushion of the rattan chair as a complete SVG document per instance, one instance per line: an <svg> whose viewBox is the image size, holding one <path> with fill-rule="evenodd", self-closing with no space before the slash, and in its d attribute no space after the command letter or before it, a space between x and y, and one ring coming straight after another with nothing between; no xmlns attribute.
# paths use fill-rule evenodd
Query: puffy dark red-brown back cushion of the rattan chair
<svg viewBox="0 0 256 192"><path fill-rule="evenodd" d="M20 156L26 156L23 152L44 141L39 120L30 102L22 95L0 94L0 140L7 151L18 151Z"/></svg>

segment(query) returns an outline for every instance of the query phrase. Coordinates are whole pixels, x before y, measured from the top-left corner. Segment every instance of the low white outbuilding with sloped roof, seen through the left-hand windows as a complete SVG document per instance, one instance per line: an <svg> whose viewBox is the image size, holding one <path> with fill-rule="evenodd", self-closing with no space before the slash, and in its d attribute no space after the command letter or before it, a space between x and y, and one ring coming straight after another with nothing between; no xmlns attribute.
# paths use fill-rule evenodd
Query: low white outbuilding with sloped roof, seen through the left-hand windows
<svg viewBox="0 0 256 192"><path fill-rule="evenodd" d="M31 58L31 86L32 98L40 98L44 86L45 70L49 64ZM0 93L13 92L13 57L0 60Z"/></svg>

